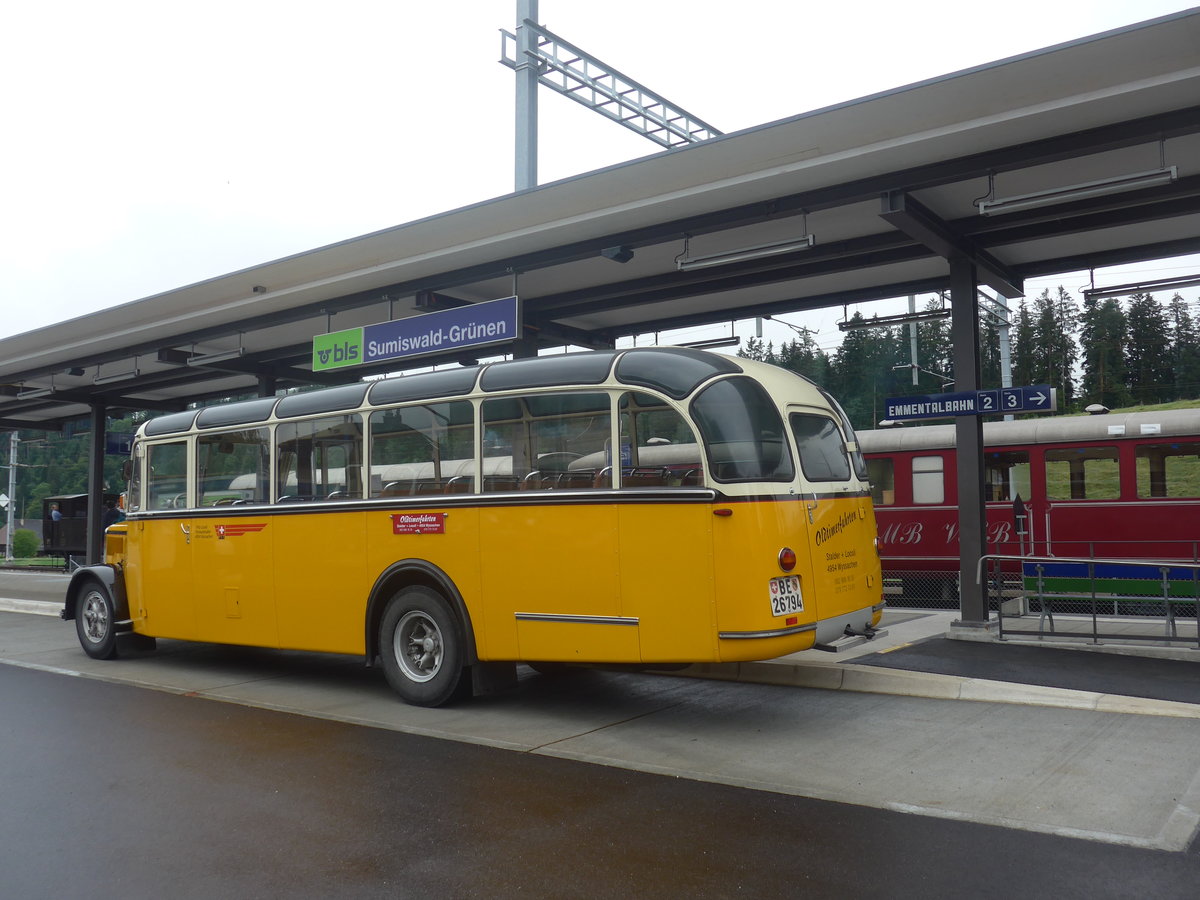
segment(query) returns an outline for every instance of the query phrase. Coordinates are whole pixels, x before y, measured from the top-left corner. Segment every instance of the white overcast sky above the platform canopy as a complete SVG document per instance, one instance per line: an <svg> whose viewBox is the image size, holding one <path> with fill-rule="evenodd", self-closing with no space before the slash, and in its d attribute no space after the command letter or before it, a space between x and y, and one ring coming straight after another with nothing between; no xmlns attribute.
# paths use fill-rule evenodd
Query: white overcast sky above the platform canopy
<svg viewBox="0 0 1200 900"><path fill-rule="evenodd" d="M539 12L731 132L1190 5L541 0ZM508 193L514 76L497 60L515 18L515 0L10 4L0 337ZM541 182L658 151L550 91L540 107ZM1106 283L1150 277L1123 274ZM791 319L830 347L840 317Z"/></svg>

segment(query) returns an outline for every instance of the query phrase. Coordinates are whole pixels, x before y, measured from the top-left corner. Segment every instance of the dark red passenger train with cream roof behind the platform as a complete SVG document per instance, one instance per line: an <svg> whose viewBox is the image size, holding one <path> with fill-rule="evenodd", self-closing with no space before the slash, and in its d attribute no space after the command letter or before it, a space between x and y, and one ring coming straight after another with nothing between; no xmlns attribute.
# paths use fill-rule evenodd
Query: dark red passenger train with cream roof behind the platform
<svg viewBox="0 0 1200 900"><path fill-rule="evenodd" d="M988 553L1198 559L1200 409L989 421L983 434ZM858 438L890 593L899 580L905 600L956 598L954 426Z"/></svg>

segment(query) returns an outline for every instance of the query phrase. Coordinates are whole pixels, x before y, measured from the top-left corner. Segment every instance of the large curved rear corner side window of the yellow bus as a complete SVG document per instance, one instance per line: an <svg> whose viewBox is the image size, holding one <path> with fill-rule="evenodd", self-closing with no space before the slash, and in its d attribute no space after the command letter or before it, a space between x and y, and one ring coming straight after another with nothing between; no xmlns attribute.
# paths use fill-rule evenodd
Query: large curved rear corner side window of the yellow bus
<svg viewBox="0 0 1200 900"><path fill-rule="evenodd" d="M792 480L796 469L784 420L757 382L744 377L716 382L696 395L691 413L718 481Z"/></svg>

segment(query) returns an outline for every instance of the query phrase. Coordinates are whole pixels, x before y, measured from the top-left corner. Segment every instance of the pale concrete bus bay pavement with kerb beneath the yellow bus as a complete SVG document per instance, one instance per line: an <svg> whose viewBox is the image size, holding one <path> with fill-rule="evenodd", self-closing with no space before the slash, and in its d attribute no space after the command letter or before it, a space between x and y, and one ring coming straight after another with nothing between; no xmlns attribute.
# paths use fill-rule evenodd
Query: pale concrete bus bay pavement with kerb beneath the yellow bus
<svg viewBox="0 0 1200 900"><path fill-rule="evenodd" d="M0 575L0 598L10 588ZM160 641L91 660L54 601L11 599L23 612L0 612L0 662L44 672L1146 850L1187 853L1200 824L1200 679L1187 658L948 641L950 613L890 611L886 635L845 653L690 678L522 667L511 691L419 709L348 656Z"/></svg>

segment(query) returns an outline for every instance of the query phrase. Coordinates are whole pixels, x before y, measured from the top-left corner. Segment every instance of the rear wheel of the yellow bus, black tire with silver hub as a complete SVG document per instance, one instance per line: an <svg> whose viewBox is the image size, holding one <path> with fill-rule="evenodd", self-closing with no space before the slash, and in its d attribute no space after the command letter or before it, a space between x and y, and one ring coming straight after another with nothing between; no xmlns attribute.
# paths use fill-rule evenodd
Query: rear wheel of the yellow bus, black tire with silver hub
<svg viewBox="0 0 1200 900"><path fill-rule="evenodd" d="M463 668L462 629L450 604L431 588L397 593L379 625L379 655L388 683L406 703L439 707L470 691Z"/></svg>

